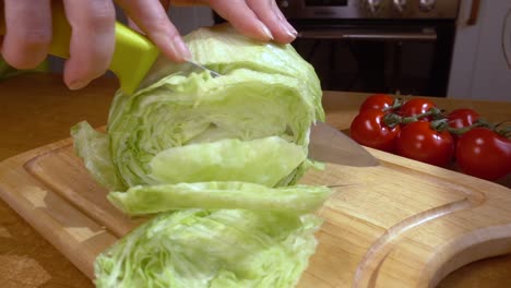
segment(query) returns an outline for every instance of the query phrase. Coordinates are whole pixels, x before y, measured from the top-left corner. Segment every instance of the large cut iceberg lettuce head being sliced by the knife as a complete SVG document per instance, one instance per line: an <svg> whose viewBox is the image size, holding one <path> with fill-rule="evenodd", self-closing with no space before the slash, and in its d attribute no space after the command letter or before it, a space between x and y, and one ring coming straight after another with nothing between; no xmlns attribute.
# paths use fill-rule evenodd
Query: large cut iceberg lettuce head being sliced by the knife
<svg viewBox="0 0 511 288"><path fill-rule="evenodd" d="M119 91L104 137L81 132L90 129L84 123L73 129L91 134L76 148L93 176L108 170L97 180L121 191L211 180L295 183L310 166L310 124L324 118L313 68L290 45L254 41L228 25L185 39L194 60L222 76L177 72L134 95Z"/></svg>

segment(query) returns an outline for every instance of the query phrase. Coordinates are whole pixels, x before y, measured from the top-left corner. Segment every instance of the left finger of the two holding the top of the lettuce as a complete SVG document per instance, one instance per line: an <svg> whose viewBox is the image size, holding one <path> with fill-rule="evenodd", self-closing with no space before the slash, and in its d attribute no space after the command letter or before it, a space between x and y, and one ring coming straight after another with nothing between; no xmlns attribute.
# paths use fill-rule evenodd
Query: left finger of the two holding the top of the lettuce
<svg viewBox="0 0 511 288"><path fill-rule="evenodd" d="M259 39L271 40L270 29L258 19L245 0L210 0L210 7L223 19L230 22L240 33Z"/></svg>

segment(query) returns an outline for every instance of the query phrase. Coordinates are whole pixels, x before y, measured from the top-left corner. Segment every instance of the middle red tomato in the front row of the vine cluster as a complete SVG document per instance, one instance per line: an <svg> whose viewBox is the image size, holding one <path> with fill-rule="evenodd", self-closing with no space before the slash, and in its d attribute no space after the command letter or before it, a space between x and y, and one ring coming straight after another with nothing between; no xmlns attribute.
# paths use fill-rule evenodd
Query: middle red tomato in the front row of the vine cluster
<svg viewBox="0 0 511 288"><path fill-rule="evenodd" d="M405 125L396 140L397 154L415 160L445 166L454 154L454 140L448 131L438 132L426 121Z"/></svg>

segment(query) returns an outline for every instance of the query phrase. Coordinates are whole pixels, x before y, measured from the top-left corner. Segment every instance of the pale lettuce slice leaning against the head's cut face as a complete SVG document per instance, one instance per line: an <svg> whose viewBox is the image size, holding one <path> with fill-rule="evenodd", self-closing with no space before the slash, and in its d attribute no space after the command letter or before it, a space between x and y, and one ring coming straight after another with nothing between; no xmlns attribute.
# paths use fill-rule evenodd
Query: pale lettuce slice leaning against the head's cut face
<svg viewBox="0 0 511 288"><path fill-rule="evenodd" d="M150 167L162 183L245 181L273 187L306 157L300 146L277 136L226 139L163 151Z"/></svg>

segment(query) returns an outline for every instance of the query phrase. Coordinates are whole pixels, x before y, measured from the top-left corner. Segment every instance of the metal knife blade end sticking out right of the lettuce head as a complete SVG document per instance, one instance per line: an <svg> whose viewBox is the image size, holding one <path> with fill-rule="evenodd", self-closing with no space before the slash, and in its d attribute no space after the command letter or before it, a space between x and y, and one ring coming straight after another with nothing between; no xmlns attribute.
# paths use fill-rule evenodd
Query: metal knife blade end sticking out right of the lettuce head
<svg viewBox="0 0 511 288"><path fill-rule="evenodd" d="M309 158L345 166L371 167L379 161L357 142L322 122L310 128Z"/></svg>

